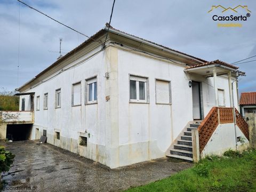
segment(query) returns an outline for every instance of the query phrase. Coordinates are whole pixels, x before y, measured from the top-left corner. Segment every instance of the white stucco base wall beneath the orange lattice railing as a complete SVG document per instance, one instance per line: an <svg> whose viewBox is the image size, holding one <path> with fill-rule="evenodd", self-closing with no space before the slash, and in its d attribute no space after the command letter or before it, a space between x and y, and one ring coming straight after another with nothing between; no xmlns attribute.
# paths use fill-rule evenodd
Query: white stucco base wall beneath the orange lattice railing
<svg viewBox="0 0 256 192"><path fill-rule="evenodd" d="M249 146L249 141L237 125L235 129L234 123L219 124L204 147L201 156L222 155L228 149L235 150L237 137L242 137L244 139L244 143L237 142L238 150L245 149Z"/></svg>

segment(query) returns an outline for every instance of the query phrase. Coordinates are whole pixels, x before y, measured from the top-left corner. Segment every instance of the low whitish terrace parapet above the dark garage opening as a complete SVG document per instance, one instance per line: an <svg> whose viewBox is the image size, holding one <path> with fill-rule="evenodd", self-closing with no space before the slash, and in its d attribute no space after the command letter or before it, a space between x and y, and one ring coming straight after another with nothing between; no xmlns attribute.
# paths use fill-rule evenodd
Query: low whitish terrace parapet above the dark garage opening
<svg viewBox="0 0 256 192"><path fill-rule="evenodd" d="M0 122L7 124L34 123L34 111L0 111Z"/></svg>

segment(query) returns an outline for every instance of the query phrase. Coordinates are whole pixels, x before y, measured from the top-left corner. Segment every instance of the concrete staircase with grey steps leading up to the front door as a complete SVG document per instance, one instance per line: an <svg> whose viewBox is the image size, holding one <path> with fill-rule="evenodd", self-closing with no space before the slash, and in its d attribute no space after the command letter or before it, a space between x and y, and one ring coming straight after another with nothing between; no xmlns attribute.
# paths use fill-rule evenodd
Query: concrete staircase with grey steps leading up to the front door
<svg viewBox="0 0 256 192"><path fill-rule="evenodd" d="M174 141L167 153L167 157L183 159L185 161L193 162L192 136L191 130L197 129L201 122L190 123L188 127L181 133L179 138ZM168 151L169 152L169 151Z"/></svg>

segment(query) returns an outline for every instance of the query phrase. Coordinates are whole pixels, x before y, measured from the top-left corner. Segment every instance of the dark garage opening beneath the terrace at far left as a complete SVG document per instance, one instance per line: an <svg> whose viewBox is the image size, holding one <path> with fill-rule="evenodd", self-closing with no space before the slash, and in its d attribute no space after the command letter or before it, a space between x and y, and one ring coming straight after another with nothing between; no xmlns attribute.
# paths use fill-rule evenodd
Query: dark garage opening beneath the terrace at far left
<svg viewBox="0 0 256 192"><path fill-rule="evenodd" d="M12 141L30 140L33 124L7 125L6 139Z"/></svg>

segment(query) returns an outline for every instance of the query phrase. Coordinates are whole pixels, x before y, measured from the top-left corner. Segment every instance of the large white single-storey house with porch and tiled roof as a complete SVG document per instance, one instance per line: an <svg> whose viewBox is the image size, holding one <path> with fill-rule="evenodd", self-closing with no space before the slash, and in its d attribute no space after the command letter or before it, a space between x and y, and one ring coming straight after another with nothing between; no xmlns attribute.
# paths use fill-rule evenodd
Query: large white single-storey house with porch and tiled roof
<svg viewBox="0 0 256 192"><path fill-rule="evenodd" d="M19 113L30 115L29 139L46 135L110 168L165 156L198 161L249 142L237 110L241 75L106 27L19 87Z"/></svg>

